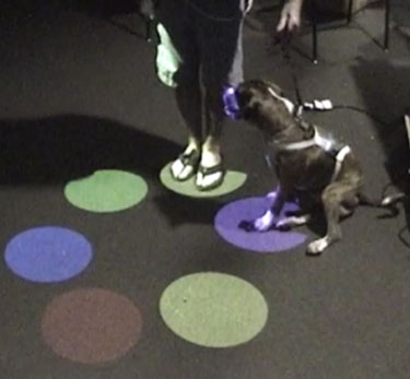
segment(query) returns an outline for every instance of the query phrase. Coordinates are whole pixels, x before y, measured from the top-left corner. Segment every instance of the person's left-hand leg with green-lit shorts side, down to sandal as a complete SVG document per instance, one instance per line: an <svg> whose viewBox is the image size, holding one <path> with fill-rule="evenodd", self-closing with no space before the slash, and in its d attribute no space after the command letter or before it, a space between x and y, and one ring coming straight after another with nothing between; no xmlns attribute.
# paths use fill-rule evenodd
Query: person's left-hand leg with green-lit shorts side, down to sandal
<svg viewBox="0 0 410 379"><path fill-rule="evenodd" d="M199 57L186 3L173 0L161 4L157 19L163 29L160 28L159 52L163 48L171 59L164 59L164 64L159 63L157 59L159 78L175 88L177 107L188 129L187 146L171 165L171 173L176 180L186 180L195 175L200 158L202 100Z"/></svg>

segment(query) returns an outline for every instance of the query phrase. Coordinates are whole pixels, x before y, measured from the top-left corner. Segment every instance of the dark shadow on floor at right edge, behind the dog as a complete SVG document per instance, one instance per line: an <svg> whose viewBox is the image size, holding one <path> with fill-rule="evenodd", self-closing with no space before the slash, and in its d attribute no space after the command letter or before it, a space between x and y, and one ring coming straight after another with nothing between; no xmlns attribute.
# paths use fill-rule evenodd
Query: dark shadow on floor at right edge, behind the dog
<svg viewBox="0 0 410 379"><path fill-rule="evenodd" d="M391 183L410 193L410 149L403 120L410 114L410 57L358 61L352 67L353 78L366 103L366 109L383 122L374 123L376 135L384 149L385 168ZM407 227L399 232L410 247L410 203L405 202Z"/></svg>

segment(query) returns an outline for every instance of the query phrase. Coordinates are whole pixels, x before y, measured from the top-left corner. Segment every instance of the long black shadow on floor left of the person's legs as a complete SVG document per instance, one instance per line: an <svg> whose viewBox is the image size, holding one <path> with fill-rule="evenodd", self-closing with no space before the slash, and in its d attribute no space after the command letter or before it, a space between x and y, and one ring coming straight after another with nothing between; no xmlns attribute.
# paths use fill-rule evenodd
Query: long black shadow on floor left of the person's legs
<svg viewBox="0 0 410 379"><path fill-rule="evenodd" d="M65 182L95 169L155 177L180 150L176 143L105 118L62 115L0 120L0 183Z"/></svg>

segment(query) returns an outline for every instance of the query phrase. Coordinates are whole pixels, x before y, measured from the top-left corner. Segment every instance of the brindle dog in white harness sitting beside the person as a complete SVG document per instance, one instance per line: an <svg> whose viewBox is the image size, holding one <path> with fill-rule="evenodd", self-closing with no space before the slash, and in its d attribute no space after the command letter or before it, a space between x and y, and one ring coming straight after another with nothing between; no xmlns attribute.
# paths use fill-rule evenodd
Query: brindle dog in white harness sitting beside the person
<svg viewBox="0 0 410 379"><path fill-rule="evenodd" d="M312 220L312 210L321 203L327 233L307 246L307 253L319 254L341 238L339 221L350 215L359 204L389 208L405 198L396 193L374 200L363 193L363 173L349 145L336 141L317 126L295 116L295 106L273 83L251 80L224 94L225 112L234 119L245 119L265 135L274 154L279 188L272 204L259 218L243 222L247 229L288 229ZM279 220L290 197L303 194L308 206L300 215ZM312 200L315 200L312 202Z"/></svg>

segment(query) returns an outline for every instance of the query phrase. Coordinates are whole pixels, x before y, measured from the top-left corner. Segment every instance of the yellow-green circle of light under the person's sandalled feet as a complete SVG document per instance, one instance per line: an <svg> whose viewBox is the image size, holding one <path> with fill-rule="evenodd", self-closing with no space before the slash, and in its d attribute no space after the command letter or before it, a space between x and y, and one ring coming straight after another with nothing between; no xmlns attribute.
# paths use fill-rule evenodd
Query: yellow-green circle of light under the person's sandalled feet
<svg viewBox="0 0 410 379"><path fill-rule="evenodd" d="M209 191L200 191L195 186L195 176L185 181L177 181L171 176L172 162L160 173L162 183L169 190L190 198L214 198L236 191L247 178L247 175L239 171L227 170L223 183Z"/></svg>

